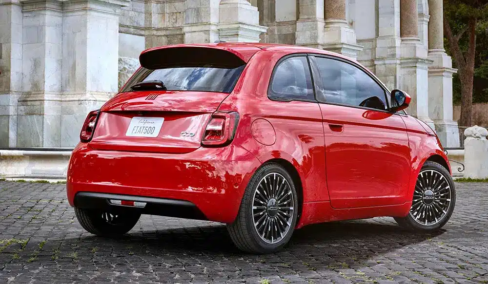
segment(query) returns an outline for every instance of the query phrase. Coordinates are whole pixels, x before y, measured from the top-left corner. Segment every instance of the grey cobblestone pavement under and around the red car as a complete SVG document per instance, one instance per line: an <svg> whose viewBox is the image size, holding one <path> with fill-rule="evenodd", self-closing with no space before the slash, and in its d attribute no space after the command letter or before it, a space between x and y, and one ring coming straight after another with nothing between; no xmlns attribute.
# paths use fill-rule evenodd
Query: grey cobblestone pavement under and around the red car
<svg viewBox="0 0 488 284"><path fill-rule="evenodd" d="M111 240L83 231L62 184L0 181L0 283L488 283L488 184L457 183L445 230L391 218L297 230L280 253L239 252L221 224L142 216Z"/></svg>

